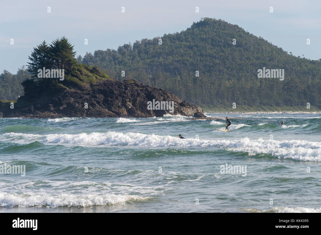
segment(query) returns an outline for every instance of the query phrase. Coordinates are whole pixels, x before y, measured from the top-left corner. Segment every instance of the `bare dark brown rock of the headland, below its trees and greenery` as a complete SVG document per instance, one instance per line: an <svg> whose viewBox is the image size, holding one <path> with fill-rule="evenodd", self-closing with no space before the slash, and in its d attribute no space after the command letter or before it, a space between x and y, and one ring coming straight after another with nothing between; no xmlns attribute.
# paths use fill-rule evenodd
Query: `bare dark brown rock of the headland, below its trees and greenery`
<svg viewBox="0 0 321 235"><path fill-rule="evenodd" d="M21 97L14 104L0 108L3 117L60 118L60 117L162 117L164 114L205 117L203 110L180 100L171 92L143 86L135 80L124 82L108 79L97 82L91 89L67 89L46 101L32 105ZM173 112L149 110L148 101L174 101ZM88 108L85 108L86 104ZM2 104L1 104L2 106Z"/></svg>

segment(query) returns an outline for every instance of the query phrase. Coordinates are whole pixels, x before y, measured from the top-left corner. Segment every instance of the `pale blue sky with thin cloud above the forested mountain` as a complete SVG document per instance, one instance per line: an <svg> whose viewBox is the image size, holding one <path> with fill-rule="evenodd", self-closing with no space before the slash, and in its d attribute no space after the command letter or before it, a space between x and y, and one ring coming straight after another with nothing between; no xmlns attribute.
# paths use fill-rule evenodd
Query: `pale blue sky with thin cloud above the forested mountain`
<svg viewBox="0 0 321 235"><path fill-rule="evenodd" d="M27 65L33 47L43 40L51 43L65 36L77 57L87 51L117 49L143 38L181 32L205 17L236 24L295 56L317 60L321 59L320 9L319 0L1 1L0 73L5 69L15 74Z"/></svg>

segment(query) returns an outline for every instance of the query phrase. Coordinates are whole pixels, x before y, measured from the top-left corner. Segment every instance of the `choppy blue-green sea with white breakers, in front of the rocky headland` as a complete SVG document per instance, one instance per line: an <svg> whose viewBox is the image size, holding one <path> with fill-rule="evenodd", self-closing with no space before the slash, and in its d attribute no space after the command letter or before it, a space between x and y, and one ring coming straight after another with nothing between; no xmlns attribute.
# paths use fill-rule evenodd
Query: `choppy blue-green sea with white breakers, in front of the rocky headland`
<svg viewBox="0 0 321 235"><path fill-rule="evenodd" d="M321 212L321 114L229 116L2 118L0 212Z"/></svg>

